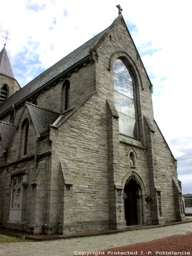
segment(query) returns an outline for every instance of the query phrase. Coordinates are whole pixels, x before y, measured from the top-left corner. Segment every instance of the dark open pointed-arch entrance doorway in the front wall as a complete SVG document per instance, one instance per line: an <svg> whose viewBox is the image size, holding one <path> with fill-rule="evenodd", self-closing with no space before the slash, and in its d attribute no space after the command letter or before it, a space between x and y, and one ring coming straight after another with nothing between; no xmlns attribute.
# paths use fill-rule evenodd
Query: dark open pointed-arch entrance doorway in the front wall
<svg viewBox="0 0 192 256"><path fill-rule="evenodd" d="M124 216L126 225L142 225L143 200L141 185L135 176L130 176L124 185Z"/></svg>

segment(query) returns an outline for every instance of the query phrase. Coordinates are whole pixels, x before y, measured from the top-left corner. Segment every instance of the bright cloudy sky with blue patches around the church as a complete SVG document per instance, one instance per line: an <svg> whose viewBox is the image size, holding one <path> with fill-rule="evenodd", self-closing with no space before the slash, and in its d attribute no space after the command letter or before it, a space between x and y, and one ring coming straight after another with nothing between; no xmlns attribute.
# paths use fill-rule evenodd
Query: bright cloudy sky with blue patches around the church
<svg viewBox="0 0 192 256"><path fill-rule="evenodd" d="M8 32L6 50L23 87L109 27L117 4L153 84L155 120L177 159L183 194L192 193L190 0L6 0L0 48Z"/></svg>

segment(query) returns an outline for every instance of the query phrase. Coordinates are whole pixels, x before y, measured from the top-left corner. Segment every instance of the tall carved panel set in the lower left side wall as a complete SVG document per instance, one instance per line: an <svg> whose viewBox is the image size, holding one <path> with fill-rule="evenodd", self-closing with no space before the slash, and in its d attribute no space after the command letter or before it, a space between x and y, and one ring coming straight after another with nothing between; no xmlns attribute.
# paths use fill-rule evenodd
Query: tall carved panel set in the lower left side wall
<svg viewBox="0 0 192 256"><path fill-rule="evenodd" d="M22 176L14 177L12 180L11 207L20 209L22 202Z"/></svg>

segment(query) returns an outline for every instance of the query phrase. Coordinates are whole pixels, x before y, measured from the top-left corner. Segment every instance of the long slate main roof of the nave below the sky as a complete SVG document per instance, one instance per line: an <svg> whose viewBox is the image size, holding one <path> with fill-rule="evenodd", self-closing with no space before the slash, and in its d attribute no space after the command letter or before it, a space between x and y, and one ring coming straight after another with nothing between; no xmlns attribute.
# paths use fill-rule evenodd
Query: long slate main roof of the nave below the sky
<svg viewBox="0 0 192 256"><path fill-rule="evenodd" d="M105 29L85 44L77 48L75 51L67 55L66 57L59 60L51 68L37 76L31 82L29 82L25 87L20 89L18 92L9 97L4 103L1 104L0 115L6 110L11 108L13 104L22 101L36 90L40 89L44 84L52 80L53 78L59 76L63 72L69 70L71 67L75 66L82 59L90 56L90 50L98 43L102 36L108 31L109 28Z"/></svg>

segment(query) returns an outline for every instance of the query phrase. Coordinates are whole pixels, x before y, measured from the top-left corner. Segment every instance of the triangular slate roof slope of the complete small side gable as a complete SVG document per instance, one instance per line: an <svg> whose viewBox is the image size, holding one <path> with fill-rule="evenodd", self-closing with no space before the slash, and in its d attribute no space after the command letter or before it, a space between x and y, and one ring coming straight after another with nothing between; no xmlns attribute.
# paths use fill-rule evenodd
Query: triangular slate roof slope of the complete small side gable
<svg viewBox="0 0 192 256"><path fill-rule="evenodd" d="M48 131L49 125L52 124L59 116L59 114L56 112L39 108L38 106L29 102L26 102L26 107L29 111L29 115L32 119L37 134Z"/></svg>

